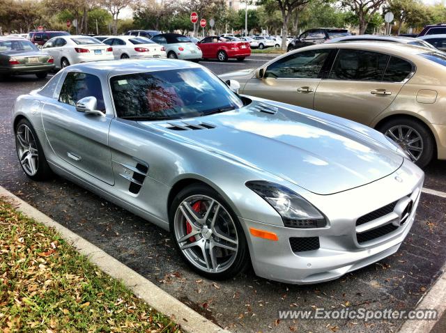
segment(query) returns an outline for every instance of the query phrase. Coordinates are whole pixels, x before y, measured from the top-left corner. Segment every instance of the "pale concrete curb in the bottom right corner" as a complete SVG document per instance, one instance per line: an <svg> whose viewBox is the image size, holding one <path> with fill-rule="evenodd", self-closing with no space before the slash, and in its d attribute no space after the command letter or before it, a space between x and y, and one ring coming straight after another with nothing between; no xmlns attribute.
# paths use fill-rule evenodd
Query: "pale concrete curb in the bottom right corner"
<svg viewBox="0 0 446 333"><path fill-rule="evenodd" d="M440 318L446 314L446 265L442 268L442 274L417 303L416 310L436 309L436 320L406 320L399 329L399 333L426 333L431 332Z"/></svg>

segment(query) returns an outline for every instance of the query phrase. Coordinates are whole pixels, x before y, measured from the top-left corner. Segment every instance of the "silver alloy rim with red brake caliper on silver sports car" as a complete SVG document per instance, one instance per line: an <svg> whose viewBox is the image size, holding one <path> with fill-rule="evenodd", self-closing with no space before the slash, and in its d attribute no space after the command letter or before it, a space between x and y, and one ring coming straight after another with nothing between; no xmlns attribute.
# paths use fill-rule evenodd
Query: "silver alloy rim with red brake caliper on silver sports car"
<svg viewBox="0 0 446 333"><path fill-rule="evenodd" d="M226 208L210 196L196 194L180 203L174 234L180 251L203 272L224 272L236 260L236 224Z"/></svg>

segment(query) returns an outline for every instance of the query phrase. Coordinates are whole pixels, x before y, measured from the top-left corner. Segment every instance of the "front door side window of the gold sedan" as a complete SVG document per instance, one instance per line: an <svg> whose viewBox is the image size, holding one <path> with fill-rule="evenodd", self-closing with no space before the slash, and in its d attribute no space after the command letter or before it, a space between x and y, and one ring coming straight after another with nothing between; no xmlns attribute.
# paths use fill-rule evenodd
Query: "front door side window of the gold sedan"
<svg viewBox="0 0 446 333"><path fill-rule="evenodd" d="M330 49L312 49L279 59L266 69L264 77L317 79Z"/></svg>

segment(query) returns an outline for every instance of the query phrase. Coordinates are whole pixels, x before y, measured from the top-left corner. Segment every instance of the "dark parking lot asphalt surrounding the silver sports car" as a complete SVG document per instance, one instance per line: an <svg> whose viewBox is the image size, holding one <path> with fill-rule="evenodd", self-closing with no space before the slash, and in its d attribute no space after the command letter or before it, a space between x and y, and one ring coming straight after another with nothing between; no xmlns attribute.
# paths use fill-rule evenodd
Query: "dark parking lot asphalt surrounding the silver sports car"
<svg viewBox="0 0 446 333"><path fill-rule="evenodd" d="M220 74L263 63L251 60L202 64ZM229 281L203 279L178 258L166 231L68 180L36 183L24 176L10 110L18 95L45 82L31 76L0 82L0 185L222 327L233 332L395 332L401 320L278 320L278 311L413 309L445 265L446 199L422 194L415 224L397 254L341 279L293 286L261 279L252 271ZM425 186L445 191L445 167L446 162L433 162L426 169Z"/></svg>

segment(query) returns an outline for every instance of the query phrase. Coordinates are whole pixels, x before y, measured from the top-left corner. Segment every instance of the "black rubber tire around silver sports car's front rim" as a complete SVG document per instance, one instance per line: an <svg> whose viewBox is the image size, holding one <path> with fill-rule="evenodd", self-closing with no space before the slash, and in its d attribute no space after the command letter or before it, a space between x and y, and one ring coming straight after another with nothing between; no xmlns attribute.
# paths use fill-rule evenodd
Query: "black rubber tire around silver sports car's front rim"
<svg viewBox="0 0 446 333"><path fill-rule="evenodd" d="M226 270L223 272L205 272L203 270L200 270L195 266L193 263L190 262L190 259L183 254L183 251L180 250L180 246L178 245L178 242L176 240L175 235L175 227L174 227L174 219L176 210L178 209L178 206L180 203L183 202L184 199L193 196L193 195L205 195L209 196L212 199L215 199L218 201L224 209L226 209L227 212L229 212L229 215L231 216L235 226L236 231L238 235L238 252L236 254L236 257ZM247 246L247 241L245 237L245 233L243 231L242 226L240 225L240 221L238 220L237 215L231 210L231 207L226 203L226 201L218 194L214 189L211 187L208 187L207 185L203 184L192 184L190 186L185 187L182 189L176 196L174 201L172 201L171 206L169 208L169 223L170 223L170 230L171 230L171 238L175 244L175 247L180 254L181 258L189 265L194 272L197 272L198 274L203 275L204 277L207 277L208 279L213 280L224 280L224 279L230 279L231 277L235 277L238 274L241 274L249 268L250 260L249 260L249 249Z"/></svg>

